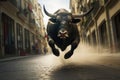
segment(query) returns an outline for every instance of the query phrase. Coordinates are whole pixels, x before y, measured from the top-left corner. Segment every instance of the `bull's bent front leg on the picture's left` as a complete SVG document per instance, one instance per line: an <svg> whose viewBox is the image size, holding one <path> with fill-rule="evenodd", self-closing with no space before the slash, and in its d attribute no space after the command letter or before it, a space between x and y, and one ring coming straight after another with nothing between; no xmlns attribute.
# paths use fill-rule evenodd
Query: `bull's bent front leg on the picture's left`
<svg viewBox="0 0 120 80"><path fill-rule="evenodd" d="M54 40L51 37L48 38L48 44L51 47L53 54L59 56L59 50L55 48Z"/></svg>

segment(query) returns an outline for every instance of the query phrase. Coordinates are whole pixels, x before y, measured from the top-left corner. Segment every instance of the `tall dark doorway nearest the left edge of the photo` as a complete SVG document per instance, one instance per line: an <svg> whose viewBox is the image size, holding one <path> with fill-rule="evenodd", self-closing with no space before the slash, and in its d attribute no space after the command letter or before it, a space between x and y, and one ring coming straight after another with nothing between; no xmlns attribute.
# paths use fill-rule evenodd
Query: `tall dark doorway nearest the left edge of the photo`
<svg viewBox="0 0 120 80"><path fill-rule="evenodd" d="M2 13L3 44L5 55L15 54L14 20Z"/></svg>

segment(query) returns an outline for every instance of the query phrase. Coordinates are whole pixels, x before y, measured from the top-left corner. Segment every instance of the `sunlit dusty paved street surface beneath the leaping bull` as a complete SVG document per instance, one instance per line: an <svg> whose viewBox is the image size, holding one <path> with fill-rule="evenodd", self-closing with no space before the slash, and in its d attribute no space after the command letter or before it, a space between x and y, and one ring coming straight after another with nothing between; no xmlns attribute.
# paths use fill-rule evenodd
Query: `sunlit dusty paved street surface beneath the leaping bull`
<svg viewBox="0 0 120 80"><path fill-rule="evenodd" d="M79 48L67 60L62 53L2 61L0 80L120 80L120 55L91 52Z"/></svg>

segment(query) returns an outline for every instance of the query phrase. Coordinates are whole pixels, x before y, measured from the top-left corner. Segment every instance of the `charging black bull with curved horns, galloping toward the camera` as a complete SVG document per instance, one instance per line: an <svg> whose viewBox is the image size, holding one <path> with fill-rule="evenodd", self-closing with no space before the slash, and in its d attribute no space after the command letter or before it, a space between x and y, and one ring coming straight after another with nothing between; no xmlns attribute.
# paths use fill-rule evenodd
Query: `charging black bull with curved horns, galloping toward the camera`
<svg viewBox="0 0 120 80"><path fill-rule="evenodd" d="M80 22L81 17L90 13L93 8L80 15L73 15L65 9L59 9L54 14L51 14L47 12L44 6L43 8L45 14L51 17L47 25L47 34L48 44L53 54L56 56L60 55L55 45L62 51L71 45L71 49L64 56L65 59L70 58L80 42L80 35L76 24Z"/></svg>

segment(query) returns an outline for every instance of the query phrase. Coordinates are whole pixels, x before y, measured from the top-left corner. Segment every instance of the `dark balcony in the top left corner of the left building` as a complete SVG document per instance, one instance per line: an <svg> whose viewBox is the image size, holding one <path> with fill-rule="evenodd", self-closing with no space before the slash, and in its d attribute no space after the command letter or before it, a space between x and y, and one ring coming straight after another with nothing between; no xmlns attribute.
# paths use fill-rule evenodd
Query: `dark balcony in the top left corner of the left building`
<svg viewBox="0 0 120 80"><path fill-rule="evenodd" d="M0 1L0 6L3 6L4 8L10 10L10 11L14 11L14 12L18 12L19 10L17 9L17 2L16 0L2 0Z"/></svg>

